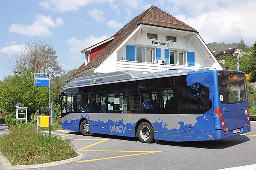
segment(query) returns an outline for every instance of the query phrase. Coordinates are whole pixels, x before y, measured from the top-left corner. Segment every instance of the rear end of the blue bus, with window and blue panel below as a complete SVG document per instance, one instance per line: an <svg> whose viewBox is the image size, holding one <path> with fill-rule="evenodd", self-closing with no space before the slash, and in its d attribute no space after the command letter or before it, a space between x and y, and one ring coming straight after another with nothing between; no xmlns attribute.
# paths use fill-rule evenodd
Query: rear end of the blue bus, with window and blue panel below
<svg viewBox="0 0 256 170"><path fill-rule="evenodd" d="M226 131L237 129L239 132L239 128L247 126L249 122L245 74L237 71L219 71L218 90L218 109L222 112Z"/></svg>

